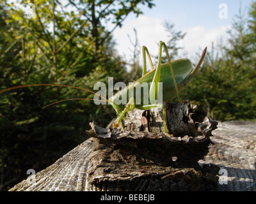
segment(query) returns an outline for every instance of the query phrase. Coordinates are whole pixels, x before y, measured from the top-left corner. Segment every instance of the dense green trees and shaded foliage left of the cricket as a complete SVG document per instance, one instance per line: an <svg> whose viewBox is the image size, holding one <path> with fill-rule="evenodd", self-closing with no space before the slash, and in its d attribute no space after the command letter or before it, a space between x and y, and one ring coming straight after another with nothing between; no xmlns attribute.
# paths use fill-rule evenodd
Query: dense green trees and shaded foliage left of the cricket
<svg viewBox="0 0 256 204"><path fill-rule="evenodd" d="M84 6L81 11L76 7L68 10L61 1L30 1L35 4L36 18L28 18L15 4L3 0L0 3L1 89L64 84L93 90L96 82L107 84L108 77L124 81L124 63L116 54L111 32L99 20L113 14L114 3L125 7L129 1L77 1L76 6ZM19 3L28 6L29 1ZM152 6L150 0L131 3L129 11L138 14L139 3ZM95 13L102 6L106 10L90 21L84 14L92 12L93 4ZM108 5L111 11L105 13ZM116 12L116 24L121 25L122 17L129 12ZM95 20L97 25L93 24ZM67 87L38 86L0 95L0 190L26 179L30 168L36 172L46 168L86 140L84 131L92 120L106 126L115 117L111 106L96 106L93 101L67 101L43 108L70 98L93 98L93 94Z"/></svg>

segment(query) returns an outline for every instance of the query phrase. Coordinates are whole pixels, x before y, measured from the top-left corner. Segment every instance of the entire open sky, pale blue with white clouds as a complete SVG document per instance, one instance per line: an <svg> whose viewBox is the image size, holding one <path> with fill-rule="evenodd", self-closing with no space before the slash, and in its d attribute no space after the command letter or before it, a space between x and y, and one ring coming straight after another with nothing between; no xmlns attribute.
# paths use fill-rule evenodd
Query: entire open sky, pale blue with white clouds
<svg viewBox="0 0 256 204"><path fill-rule="evenodd" d="M219 8L220 4L227 5L227 18L220 18L219 13L223 8ZM147 6L140 6L143 15L136 18L129 15L125 19L124 25L113 33L116 43L118 43L118 52L123 54L127 60L131 57L132 48L127 34L133 39L136 29L140 45L148 47L150 54L157 55L157 43L168 40L168 33L164 31L163 22L168 21L175 24L175 31L186 32L184 40L179 42L184 51L180 52L180 57L196 57L196 53L202 52L204 47L211 49L212 42L214 45L222 41L225 43L227 39L227 31L231 28L232 20L239 13L241 3L241 11L248 13L248 8L252 0L156 0L152 9ZM140 54L141 55L141 54ZM179 58L180 58L179 57ZM189 59L190 59L189 58ZM194 62L194 61L193 61ZM140 64L142 59L140 57Z"/></svg>

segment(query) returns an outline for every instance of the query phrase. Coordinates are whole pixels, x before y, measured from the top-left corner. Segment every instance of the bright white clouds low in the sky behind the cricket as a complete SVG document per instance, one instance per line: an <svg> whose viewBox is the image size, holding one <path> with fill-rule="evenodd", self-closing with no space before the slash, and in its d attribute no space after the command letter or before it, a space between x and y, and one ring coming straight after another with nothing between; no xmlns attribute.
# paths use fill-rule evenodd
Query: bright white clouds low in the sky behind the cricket
<svg viewBox="0 0 256 204"><path fill-rule="evenodd" d="M129 48L133 49L127 34L129 34L131 40L134 41L134 28L137 31L140 47L145 45L152 56L158 55L158 43L160 40L168 41L169 33L165 31L163 20L160 18L140 16L130 20L123 27L114 31L114 38L118 44L118 52L119 54L124 55L127 60L131 59L132 56L132 52ZM185 52L182 50L179 53L179 57L188 57L194 62L193 59L195 58L196 53L199 54L205 47L207 47L208 50L211 50L212 42L214 43L214 46L216 46L221 38L225 38L223 36L227 36L227 30L229 28L230 26L222 26L216 29L205 29L201 26L195 26L185 29L182 32L186 33L186 36L178 44L180 47L184 47ZM142 63L142 54L140 53L140 64L142 65ZM148 61L147 64L149 70ZM154 65L156 66L156 60L154 61Z"/></svg>

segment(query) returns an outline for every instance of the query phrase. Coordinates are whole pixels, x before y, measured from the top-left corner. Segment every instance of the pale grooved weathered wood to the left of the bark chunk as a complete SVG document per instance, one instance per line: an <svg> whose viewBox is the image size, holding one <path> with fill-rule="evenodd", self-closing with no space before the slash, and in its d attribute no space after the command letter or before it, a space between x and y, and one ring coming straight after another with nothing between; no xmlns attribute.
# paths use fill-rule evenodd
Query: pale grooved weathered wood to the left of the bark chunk
<svg viewBox="0 0 256 204"><path fill-rule="evenodd" d="M93 138L86 140L58 159L54 164L36 173L35 178L23 180L9 191L85 191L88 189L87 157L93 151Z"/></svg>

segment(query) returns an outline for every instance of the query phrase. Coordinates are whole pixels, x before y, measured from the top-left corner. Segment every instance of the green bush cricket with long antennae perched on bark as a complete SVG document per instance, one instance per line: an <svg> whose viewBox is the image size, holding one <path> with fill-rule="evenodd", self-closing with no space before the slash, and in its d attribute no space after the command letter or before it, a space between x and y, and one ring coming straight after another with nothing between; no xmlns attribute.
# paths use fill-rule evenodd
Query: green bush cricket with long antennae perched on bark
<svg viewBox="0 0 256 204"><path fill-rule="evenodd" d="M162 57L162 48L164 47L164 51L166 52L166 56L168 59L168 62L161 64L161 57ZM116 121L114 122L113 126L117 127L120 126L123 130L122 126L122 119L127 115L127 113L130 110L133 110L134 108L138 108L140 110L150 110L152 108L161 108L163 110L163 124L164 124L164 134L168 134L167 126L166 126L166 112L165 108L163 106L163 103L157 103L157 99L159 96L159 87L160 83L162 83L163 87L163 102L169 101L175 96L177 96L178 101L181 101L180 99L180 91L186 87L186 85L189 84L191 79L195 76L196 71L202 64L202 61L204 60L205 53L207 48L204 49L204 52L202 53L198 63L196 64L195 68L192 67L191 62L188 59L178 59L175 61L170 60L170 55L168 54L167 47L163 41L159 42L159 56L158 56L158 62L157 67L154 68L152 64L152 59L150 57L150 54L148 52L147 47L142 47L142 54L143 54L143 74L142 77L136 80L136 82L128 85L125 87L125 89L122 89L121 91L117 92L115 95L111 96L111 98L106 99L103 98L101 95L90 91L88 89L80 88L80 87L72 87L69 85L59 85L59 84L28 84L28 85L19 85L16 87L10 87L7 89L3 89L0 91L0 94L6 91L11 91L14 89L19 89L22 87L31 87L31 86L39 86L39 85L51 85L51 86L63 86L63 87L72 87L76 89L83 89L84 91L92 92L93 94L96 94L101 99L96 101L108 101L109 104L113 106L113 108L116 111L116 114L118 115ZM152 68L151 71L147 73L147 65L146 65L146 53L148 55L148 59L150 61L150 66ZM145 98L141 98L140 102L142 103L136 103L135 92L133 91L134 88L140 87L141 84L146 85L148 88L147 96L149 96L148 103L145 103ZM131 91L132 90L132 91ZM127 98L128 103L116 103L116 99L120 98ZM75 98L79 100L95 100L95 99L84 99L84 98ZM72 99L65 99L62 101L68 101ZM57 101L55 103L59 103L61 101ZM138 101L137 101L138 102ZM55 103L52 103L50 105L53 105ZM47 105L49 106L49 105Z"/></svg>

